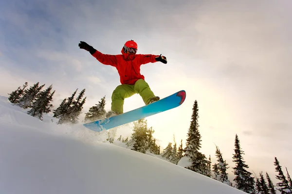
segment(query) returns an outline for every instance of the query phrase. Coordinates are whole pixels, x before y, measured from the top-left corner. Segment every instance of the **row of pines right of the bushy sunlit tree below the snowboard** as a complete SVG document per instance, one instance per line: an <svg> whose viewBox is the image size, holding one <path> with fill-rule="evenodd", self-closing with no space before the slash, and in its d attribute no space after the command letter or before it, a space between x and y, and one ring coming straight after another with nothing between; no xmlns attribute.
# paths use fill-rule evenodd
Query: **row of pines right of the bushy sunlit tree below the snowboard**
<svg viewBox="0 0 292 194"><path fill-rule="evenodd" d="M193 112L187 133L185 148L183 149L181 144L177 152L179 154L176 154L176 143L174 142L173 147L171 147L171 143L169 143L164 149L163 157L169 159L169 162L182 162L182 165L189 170L214 178L245 193L276 194L276 191L278 190L281 194L292 194L292 180L289 172L286 168L286 177L276 157L274 157L274 166L275 172L277 172L278 175L276 175L275 178L278 179L279 182L276 183L275 186L267 172L265 173L266 178L264 178L262 172L259 173L259 177L256 177L256 175L253 176L253 174L248 171L249 166L244 161L244 151L240 147L237 134L235 135L234 143L235 153L232 156L232 162L235 162L235 166L232 167L235 175L235 178L233 179L234 183L232 183L228 178L228 173L226 173L229 168L228 164L226 163L226 160L223 159L222 152L218 146L216 146L215 152L217 161L213 165L211 165L210 155L207 159L206 156L200 152L201 134L199 131L199 107L197 100L195 100L192 110ZM173 160L176 157L178 158Z"/></svg>

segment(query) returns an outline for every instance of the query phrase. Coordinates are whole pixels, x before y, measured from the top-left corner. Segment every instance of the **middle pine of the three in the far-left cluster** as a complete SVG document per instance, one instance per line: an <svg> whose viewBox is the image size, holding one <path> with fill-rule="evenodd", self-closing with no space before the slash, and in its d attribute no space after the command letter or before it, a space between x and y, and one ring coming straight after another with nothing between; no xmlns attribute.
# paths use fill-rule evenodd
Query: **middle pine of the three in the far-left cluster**
<svg viewBox="0 0 292 194"><path fill-rule="evenodd" d="M41 89L44 86L45 84L39 86L39 82L37 82L29 89L25 89L23 91L23 96L18 101L18 106L24 109L30 108L32 106L32 102L37 97L37 94L41 91Z"/></svg>

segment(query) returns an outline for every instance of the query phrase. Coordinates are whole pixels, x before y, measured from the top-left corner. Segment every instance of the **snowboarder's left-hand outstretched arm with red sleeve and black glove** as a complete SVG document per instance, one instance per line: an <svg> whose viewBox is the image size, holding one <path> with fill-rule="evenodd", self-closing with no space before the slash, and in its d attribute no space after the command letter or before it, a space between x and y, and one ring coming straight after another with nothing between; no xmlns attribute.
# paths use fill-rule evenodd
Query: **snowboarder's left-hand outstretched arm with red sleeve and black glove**
<svg viewBox="0 0 292 194"><path fill-rule="evenodd" d="M100 63L104 65L111 65L116 67L117 66L117 59L114 55L108 55L108 54L103 54L99 52L98 50L94 49L90 45L88 45L86 42L80 41L78 44L80 49L85 49L90 52L90 54L95 57Z"/></svg>

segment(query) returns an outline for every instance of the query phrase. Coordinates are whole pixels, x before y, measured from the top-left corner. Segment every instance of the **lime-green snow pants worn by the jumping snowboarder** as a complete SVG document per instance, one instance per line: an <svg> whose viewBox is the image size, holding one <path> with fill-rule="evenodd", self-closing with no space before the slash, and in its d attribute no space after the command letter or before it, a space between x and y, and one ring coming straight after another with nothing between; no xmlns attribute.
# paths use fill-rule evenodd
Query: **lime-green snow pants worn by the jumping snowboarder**
<svg viewBox="0 0 292 194"><path fill-rule="evenodd" d="M124 113L124 100L134 94L139 94L145 105L148 104L150 98L155 97L148 83L140 79L134 85L122 84L116 87L111 96L111 111L116 113Z"/></svg>

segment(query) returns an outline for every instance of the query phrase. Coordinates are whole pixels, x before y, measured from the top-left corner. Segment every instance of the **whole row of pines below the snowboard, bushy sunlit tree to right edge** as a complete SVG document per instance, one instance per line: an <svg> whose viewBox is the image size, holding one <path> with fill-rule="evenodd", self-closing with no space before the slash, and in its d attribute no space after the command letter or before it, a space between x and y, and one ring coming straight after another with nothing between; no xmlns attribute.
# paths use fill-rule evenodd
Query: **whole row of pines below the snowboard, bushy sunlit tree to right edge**
<svg viewBox="0 0 292 194"><path fill-rule="evenodd" d="M152 136L153 129L146 127L147 124L145 119L134 122L135 127L130 140L128 140L128 137L127 139L124 139L121 136L117 140L122 141L132 150L142 153L149 151L150 153L161 155L161 157L168 162L181 165L184 168L216 179L245 193L276 194L276 191L279 191L281 194L292 194L292 180L289 172L286 168L287 176L285 176L285 173L282 171L282 167L276 157L274 157L274 166L278 175L275 178L279 181L276 185L273 184L273 181L267 172L264 174L265 176L262 172L259 172L259 177L257 177L248 171L249 166L244 161L244 151L240 147L240 141L237 134L235 135L235 148L232 156L233 162L235 162L235 166L232 167L232 172L235 175L235 178L233 179L234 183L232 183L228 178L228 163L223 159L219 146L216 146L215 156L217 161L214 164L211 162L210 155L207 159L206 156L200 152L201 134L199 131L198 119L199 108L196 100L193 105L193 113L185 147L183 147L183 140L181 140L181 144L177 147L175 137L173 136L173 142L169 142L161 153L159 150L157 150L157 152L151 151L151 149L149 149L149 143L151 142L150 137Z"/></svg>

